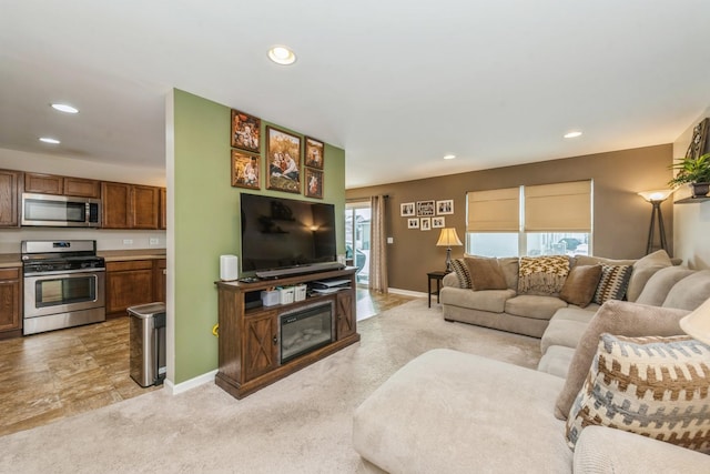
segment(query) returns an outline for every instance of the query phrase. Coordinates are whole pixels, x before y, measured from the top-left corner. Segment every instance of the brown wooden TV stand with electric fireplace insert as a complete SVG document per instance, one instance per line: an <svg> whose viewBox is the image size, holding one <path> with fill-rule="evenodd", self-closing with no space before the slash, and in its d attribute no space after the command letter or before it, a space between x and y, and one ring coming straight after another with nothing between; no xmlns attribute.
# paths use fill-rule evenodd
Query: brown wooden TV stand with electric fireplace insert
<svg viewBox="0 0 710 474"><path fill-rule="evenodd" d="M359 341L355 299L356 271L357 269L346 268L254 283L215 282L219 290L220 367L214 382L232 396L242 399ZM332 294L308 295L304 301L291 304L245 307L246 301L273 286L308 284L316 280L332 279L349 280L349 288ZM333 302L335 341L282 364L280 315L316 302Z"/></svg>

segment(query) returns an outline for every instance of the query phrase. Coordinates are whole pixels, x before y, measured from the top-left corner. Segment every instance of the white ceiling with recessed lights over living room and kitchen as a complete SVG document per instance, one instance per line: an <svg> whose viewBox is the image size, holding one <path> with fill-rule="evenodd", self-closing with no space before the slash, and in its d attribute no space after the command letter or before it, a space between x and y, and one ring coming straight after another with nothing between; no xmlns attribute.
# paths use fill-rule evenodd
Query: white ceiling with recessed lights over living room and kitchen
<svg viewBox="0 0 710 474"><path fill-rule="evenodd" d="M164 167L179 88L344 148L357 188L670 143L710 104L710 1L423 3L0 0L0 148Z"/></svg>

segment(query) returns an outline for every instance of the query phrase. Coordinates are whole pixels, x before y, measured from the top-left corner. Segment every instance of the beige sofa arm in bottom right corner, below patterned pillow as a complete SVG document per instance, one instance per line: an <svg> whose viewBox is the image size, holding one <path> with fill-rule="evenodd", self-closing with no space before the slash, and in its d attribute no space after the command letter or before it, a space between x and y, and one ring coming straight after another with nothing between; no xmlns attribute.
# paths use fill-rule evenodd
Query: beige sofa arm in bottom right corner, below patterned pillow
<svg viewBox="0 0 710 474"><path fill-rule="evenodd" d="M574 467L575 474L708 473L710 456L621 430L587 426L577 441Z"/></svg>

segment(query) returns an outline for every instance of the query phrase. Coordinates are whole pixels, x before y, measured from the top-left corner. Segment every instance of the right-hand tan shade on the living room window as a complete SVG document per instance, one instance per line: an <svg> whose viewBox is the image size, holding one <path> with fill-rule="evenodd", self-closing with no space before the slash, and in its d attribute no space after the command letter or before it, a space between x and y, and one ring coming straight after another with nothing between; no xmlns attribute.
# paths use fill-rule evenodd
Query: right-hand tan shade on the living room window
<svg viewBox="0 0 710 474"><path fill-rule="evenodd" d="M591 181L525 186L526 232L591 232Z"/></svg>

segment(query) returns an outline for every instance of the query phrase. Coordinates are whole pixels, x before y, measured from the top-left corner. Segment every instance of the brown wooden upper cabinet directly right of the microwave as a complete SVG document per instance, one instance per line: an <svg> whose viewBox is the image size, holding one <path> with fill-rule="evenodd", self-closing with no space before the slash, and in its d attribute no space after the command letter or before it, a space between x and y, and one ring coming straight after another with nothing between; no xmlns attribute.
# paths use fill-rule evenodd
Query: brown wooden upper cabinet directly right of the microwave
<svg viewBox="0 0 710 474"><path fill-rule="evenodd" d="M160 188L101 183L103 229L159 229Z"/></svg>

